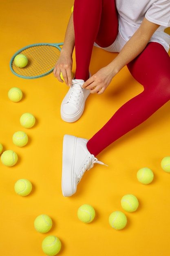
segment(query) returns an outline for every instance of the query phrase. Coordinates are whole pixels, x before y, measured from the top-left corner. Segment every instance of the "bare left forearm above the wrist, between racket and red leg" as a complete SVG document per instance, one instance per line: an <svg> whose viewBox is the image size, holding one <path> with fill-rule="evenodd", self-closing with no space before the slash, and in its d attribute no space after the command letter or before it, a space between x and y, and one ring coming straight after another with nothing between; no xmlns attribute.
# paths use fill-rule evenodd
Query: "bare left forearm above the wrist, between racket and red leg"
<svg viewBox="0 0 170 256"><path fill-rule="evenodd" d="M66 34L64 38L64 45L62 47L61 54L66 53L72 56L74 46L75 46L75 34L74 34L73 13L72 13L68 21Z"/></svg>

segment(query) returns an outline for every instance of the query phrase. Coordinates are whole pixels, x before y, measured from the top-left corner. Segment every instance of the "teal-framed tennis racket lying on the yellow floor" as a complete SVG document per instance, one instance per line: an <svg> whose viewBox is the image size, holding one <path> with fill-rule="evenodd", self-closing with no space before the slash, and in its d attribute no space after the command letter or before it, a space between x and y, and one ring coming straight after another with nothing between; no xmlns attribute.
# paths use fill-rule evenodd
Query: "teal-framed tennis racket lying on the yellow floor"
<svg viewBox="0 0 170 256"><path fill-rule="evenodd" d="M63 43L38 43L27 45L16 52L10 61L10 69L15 74L24 79L35 79L46 76L53 72L55 63L57 62L61 45ZM14 58L18 54L24 54L28 58L26 67L17 67Z"/></svg>

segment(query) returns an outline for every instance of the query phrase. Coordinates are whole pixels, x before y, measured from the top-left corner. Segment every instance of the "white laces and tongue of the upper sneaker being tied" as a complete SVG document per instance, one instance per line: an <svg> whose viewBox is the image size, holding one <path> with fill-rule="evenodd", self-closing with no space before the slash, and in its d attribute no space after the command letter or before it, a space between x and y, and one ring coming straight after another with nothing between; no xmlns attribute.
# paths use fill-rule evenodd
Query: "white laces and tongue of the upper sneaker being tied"
<svg viewBox="0 0 170 256"><path fill-rule="evenodd" d="M83 83L80 83L78 81L72 80L72 85L71 85L71 94L68 99L68 102L77 105L79 101L80 94L82 93L83 97L83 89L82 89Z"/></svg>

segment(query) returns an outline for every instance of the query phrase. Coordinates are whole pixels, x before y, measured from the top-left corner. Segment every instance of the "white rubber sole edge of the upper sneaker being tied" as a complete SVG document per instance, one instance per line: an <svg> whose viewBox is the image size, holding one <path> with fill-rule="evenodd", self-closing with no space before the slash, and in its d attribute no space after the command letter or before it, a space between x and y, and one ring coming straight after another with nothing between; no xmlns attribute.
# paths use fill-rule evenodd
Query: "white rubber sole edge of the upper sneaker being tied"
<svg viewBox="0 0 170 256"><path fill-rule="evenodd" d="M84 112L84 107L85 107L86 99L90 95L90 92L88 92L88 91L86 92L85 90L86 89L84 89L84 94L85 94L84 95L84 103L82 104L82 108L75 115L68 116L68 115L65 115L64 112L62 112L62 104L63 104L64 100L62 101L61 109L60 109L60 115L61 115L61 118L62 118L63 121L65 121L67 123L73 123L73 122L77 121L82 116L82 114Z"/></svg>

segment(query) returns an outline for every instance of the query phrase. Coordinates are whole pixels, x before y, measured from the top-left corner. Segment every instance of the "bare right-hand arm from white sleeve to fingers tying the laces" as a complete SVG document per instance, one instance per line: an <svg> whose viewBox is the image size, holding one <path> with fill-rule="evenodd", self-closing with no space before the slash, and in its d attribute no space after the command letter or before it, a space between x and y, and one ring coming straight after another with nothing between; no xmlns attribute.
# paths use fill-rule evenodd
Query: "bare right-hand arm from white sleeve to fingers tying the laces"
<svg viewBox="0 0 170 256"><path fill-rule="evenodd" d="M139 29L130 38L117 57L106 67L100 69L91 76L83 85L83 88L91 90L91 93L103 93L113 77L130 61L136 58L148 44L152 34L159 25L154 24L144 18Z"/></svg>

